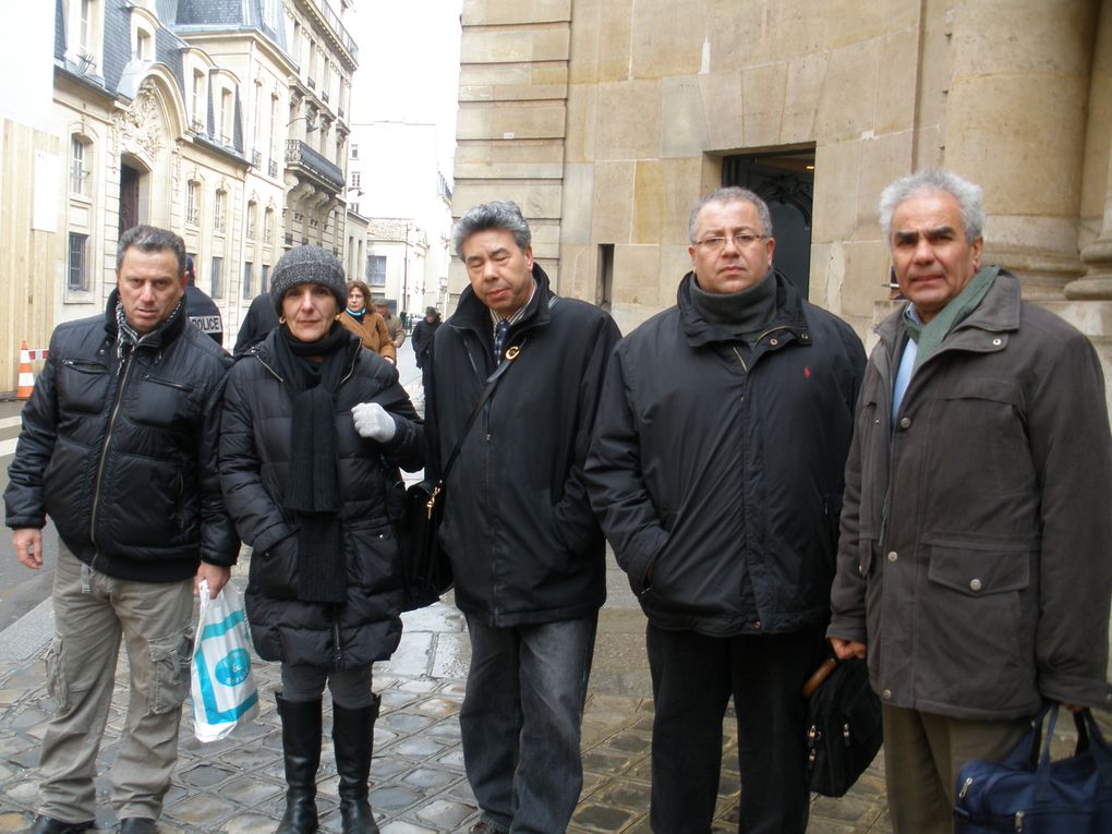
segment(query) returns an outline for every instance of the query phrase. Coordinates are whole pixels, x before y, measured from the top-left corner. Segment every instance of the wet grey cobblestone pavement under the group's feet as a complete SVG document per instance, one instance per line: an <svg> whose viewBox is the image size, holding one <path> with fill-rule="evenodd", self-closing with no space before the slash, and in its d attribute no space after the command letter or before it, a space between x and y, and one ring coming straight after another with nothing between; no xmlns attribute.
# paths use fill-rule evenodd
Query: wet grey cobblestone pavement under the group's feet
<svg viewBox="0 0 1112 834"><path fill-rule="evenodd" d="M246 580L241 559L234 578ZM647 834L649 739L653 702L644 648L644 617L623 575L608 573L610 602L602 612L583 732L583 796L569 832ZM52 629L49 599L0 634L0 832L21 831L33 815L36 765L42 722L52 704L46 692L44 655ZM464 777L457 713L468 663L464 618L437 604L406 615L401 646L375 666L383 713L375 728L371 804L384 834L467 831L477 818ZM126 659L100 755L110 767L126 708ZM271 834L282 811L281 732L271 692L278 665L257 663L261 713L232 737L200 744L186 709L181 757L160 821L163 834ZM321 831L339 831L336 768L328 738L321 756ZM736 729L726 722L723 778L714 831L737 831ZM107 785L98 780L98 825L111 830ZM808 828L815 834L884 834L880 763L840 801L816 797Z"/></svg>

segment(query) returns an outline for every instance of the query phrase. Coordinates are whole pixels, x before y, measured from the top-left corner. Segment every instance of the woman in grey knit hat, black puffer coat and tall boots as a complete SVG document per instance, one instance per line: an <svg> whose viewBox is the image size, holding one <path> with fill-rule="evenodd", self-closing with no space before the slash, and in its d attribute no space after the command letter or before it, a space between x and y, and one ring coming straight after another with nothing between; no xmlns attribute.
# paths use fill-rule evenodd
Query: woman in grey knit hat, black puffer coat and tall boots
<svg viewBox="0 0 1112 834"><path fill-rule="evenodd" d="M386 510L389 473L423 465L424 426L398 373L337 321L344 269L319 247L288 251L270 295L279 326L228 374L220 478L252 546L247 616L280 661L286 813L276 834L317 830L321 696L345 834L378 832L367 778L379 701L371 664L401 638L403 569Z"/></svg>

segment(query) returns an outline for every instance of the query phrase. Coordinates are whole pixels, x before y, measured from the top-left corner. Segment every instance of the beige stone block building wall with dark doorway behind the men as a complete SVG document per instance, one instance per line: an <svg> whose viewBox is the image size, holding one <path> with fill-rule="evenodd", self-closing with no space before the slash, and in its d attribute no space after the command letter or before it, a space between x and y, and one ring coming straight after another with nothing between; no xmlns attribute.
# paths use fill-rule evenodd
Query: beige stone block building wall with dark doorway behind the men
<svg viewBox="0 0 1112 834"><path fill-rule="evenodd" d="M1108 371L1112 0L465 0L463 28L453 214L515 199L559 290L623 330L674 301L694 200L738 183L866 335L880 191L945 166L984 186L987 259Z"/></svg>

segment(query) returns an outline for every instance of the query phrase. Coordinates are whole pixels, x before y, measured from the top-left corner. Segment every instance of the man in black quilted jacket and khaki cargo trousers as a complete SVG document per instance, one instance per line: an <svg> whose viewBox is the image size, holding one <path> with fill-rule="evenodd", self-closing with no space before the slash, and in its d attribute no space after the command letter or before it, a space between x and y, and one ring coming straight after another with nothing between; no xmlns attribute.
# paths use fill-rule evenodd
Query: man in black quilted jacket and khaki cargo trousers
<svg viewBox="0 0 1112 834"><path fill-rule="evenodd" d="M189 324L185 245L137 226L116 262L105 315L54 329L4 492L23 565L42 567L47 515L59 537L47 661L57 712L27 834L93 826L121 641L131 694L111 803L122 834L156 831L189 692L192 594L207 579L215 597L239 550L216 453L231 358Z"/></svg>

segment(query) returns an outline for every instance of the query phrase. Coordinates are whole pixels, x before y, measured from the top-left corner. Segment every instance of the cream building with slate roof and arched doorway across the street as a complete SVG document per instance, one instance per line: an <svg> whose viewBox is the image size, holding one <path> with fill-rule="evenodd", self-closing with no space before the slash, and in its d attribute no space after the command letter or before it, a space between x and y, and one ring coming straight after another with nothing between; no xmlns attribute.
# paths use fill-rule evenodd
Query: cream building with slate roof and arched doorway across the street
<svg viewBox="0 0 1112 834"><path fill-rule="evenodd" d="M341 13L351 0L332 2ZM28 14L42 17L34 6ZM33 217L13 206L0 221L17 251L3 256L0 292L24 299L0 310L0 374L11 380L0 390L14 388L21 339L46 347L58 322L103 310L116 241L136 224L182 236L226 344L286 248L312 242L344 258L347 242L358 52L328 0L51 6L51 123L3 120L14 140L0 149L7 187L52 205Z"/></svg>

